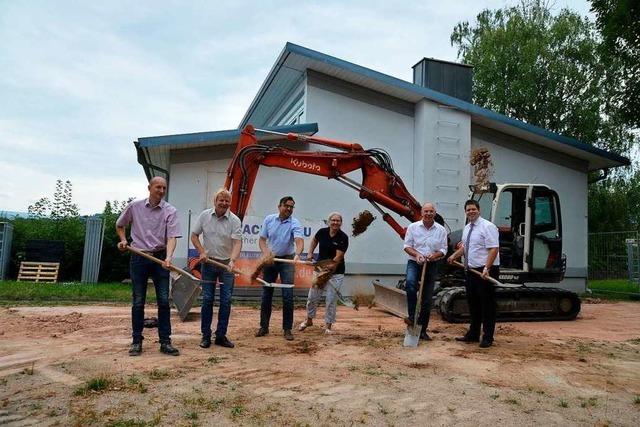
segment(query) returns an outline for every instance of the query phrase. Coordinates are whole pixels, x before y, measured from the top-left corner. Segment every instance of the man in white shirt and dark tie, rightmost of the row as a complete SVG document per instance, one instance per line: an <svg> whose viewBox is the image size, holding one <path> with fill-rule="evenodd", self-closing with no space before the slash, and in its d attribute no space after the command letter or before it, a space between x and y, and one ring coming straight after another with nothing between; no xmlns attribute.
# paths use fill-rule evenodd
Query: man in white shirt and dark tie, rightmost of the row
<svg viewBox="0 0 640 427"><path fill-rule="evenodd" d="M463 245L449 257L449 263L460 258L464 253L466 271L467 302L471 322L469 330L457 341L480 341L482 325L482 341L480 347L487 348L493 344L493 333L496 327L496 299L493 283L486 280L489 276L497 279L500 274L500 254L498 243L498 227L480 216L480 204L476 200L467 200L464 204L467 225L462 232ZM469 272L476 270L482 277Z"/></svg>

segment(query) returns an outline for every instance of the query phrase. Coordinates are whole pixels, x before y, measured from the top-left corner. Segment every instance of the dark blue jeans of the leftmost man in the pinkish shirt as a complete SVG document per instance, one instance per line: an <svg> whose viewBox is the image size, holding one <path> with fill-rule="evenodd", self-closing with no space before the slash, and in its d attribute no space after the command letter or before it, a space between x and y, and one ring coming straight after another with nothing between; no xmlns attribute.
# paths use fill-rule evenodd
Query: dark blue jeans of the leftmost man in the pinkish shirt
<svg viewBox="0 0 640 427"><path fill-rule="evenodd" d="M163 252L153 254L156 258L164 259ZM158 304L158 337L160 343L171 342L171 308L169 306L169 270L140 255L131 254L130 263L131 282L133 284L133 301L131 305L131 326L134 343L143 340L144 305L147 299L147 281L153 280L156 288Z"/></svg>

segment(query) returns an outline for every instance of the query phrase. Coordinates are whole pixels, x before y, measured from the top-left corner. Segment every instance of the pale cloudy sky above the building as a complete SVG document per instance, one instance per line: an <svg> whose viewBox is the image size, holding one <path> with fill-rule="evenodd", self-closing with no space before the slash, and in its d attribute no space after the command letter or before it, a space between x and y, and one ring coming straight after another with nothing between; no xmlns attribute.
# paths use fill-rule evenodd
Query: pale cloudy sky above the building
<svg viewBox="0 0 640 427"><path fill-rule="evenodd" d="M143 197L132 141L237 128L287 41L410 81L425 56L456 60L456 23L516 3L0 0L0 211L56 179L82 214Z"/></svg>

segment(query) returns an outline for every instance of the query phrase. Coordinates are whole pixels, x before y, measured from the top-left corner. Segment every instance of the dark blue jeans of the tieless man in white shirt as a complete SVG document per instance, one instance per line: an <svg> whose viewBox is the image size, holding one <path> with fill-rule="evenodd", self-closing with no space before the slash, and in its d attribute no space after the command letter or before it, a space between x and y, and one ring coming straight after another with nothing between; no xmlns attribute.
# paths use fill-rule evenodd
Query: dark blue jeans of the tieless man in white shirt
<svg viewBox="0 0 640 427"><path fill-rule="evenodd" d="M433 298L433 285L438 275L438 264L427 263L427 272L424 276L424 287L422 288L422 303L420 305L420 316L418 324L422 325L422 330L426 331L429 326L429 314L431 313L431 299ZM418 291L420 289L420 278L422 277L422 266L410 259L407 262L407 277L405 280L405 290L407 292L407 312L409 319L413 322L418 303Z"/></svg>

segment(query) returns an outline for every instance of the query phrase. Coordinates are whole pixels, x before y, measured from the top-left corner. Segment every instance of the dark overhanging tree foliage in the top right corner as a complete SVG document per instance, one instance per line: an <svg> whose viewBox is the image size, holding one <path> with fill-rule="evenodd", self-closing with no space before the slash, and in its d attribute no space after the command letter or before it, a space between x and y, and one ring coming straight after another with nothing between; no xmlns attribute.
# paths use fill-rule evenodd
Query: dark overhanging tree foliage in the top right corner
<svg viewBox="0 0 640 427"><path fill-rule="evenodd" d="M619 61L620 86L614 102L620 105L623 119L640 127L640 1L591 0L596 25L603 37L602 53Z"/></svg>

